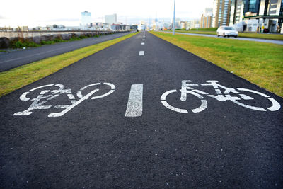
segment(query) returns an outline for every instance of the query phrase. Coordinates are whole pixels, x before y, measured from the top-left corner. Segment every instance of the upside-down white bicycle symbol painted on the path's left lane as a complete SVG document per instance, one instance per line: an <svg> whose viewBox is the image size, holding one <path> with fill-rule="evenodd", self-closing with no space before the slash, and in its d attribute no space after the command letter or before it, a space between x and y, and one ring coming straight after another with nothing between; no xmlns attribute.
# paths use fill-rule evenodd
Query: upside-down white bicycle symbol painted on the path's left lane
<svg viewBox="0 0 283 189"><path fill-rule="evenodd" d="M64 89L64 85L62 84L49 84L49 85L45 85L45 86L39 86L37 88L33 88L28 92L23 93L20 96L21 101L33 101L33 103L30 105L30 107L27 110L24 110L22 112L18 112L18 113L14 113L13 115L30 115L32 114L32 110L40 110L40 109L49 109L52 108L52 105L44 105L45 103L47 103L48 101L62 95L62 94L66 94L69 98L69 100L71 101L71 104L69 105L54 105L53 108L55 109L64 109L62 110L62 112L60 113L50 113L48 115L48 117L59 117L64 115L65 113L69 112L69 110L71 110L72 108L74 108L76 105L79 105L79 103L87 100L88 98L90 98L94 93L98 92L100 89L96 88L93 91L87 93L86 95L83 95L82 92L83 90L85 90L86 88L89 88L91 86L102 86L102 85L106 85L106 86L110 86L110 90L107 93L104 93L103 95L100 96L93 96L91 99L98 99L98 98L103 98L105 96L110 95L111 93L113 93L115 91L115 86L113 84L110 83L96 83L96 84L90 84L88 86L84 86L83 88L81 88L79 91L77 91L76 96L78 98L76 98L72 93L71 93L71 89L67 88ZM42 88L48 88L50 86L57 86L58 89L55 90L42 90ZM40 94L36 97L36 98L28 98L27 96L29 95L29 93L36 91L36 90L42 90L40 92ZM42 101L43 100L43 101ZM41 102L40 102L41 101Z"/></svg>

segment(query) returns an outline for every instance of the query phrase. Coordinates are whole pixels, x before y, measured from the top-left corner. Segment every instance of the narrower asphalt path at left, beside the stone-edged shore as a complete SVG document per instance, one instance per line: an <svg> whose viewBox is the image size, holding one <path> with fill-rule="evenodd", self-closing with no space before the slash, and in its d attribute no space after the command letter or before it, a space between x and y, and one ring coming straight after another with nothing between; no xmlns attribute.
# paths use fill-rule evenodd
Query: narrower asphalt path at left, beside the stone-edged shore
<svg viewBox="0 0 283 189"><path fill-rule="evenodd" d="M81 47L87 47L107 40L120 38L127 34L129 33L115 33L112 35L102 35L99 38L86 38L83 40L60 42L54 45L44 45L42 47L29 48L26 50L0 53L0 71L6 71L47 57L61 55Z"/></svg>

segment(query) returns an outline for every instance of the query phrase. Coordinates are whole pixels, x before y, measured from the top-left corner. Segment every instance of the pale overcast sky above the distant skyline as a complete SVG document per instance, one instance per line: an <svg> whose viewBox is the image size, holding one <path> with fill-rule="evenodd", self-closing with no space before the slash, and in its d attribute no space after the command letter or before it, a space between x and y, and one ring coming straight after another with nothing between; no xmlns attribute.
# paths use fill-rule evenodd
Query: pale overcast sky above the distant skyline
<svg viewBox="0 0 283 189"><path fill-rule="evenodd" d="M183 20L200 18L213 0L175 0L175 16ZM93 21L104 21L117 13L122 23L173 18L173 0L1 0L0 26L79 25L81 12L91 12Z"/></svg>

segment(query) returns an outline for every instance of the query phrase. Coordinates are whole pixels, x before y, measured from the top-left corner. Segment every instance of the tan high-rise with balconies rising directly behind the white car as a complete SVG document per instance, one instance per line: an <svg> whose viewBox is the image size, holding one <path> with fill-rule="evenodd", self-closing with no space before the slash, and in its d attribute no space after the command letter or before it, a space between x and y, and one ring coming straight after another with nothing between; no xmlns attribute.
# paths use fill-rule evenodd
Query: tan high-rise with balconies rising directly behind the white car
<svg viewBox="0 0 283 189"><path fill-rule="evenodd" d="M221 25L229 25L231 0L214 0L213 8L213 27L218 28Z"/></svg>

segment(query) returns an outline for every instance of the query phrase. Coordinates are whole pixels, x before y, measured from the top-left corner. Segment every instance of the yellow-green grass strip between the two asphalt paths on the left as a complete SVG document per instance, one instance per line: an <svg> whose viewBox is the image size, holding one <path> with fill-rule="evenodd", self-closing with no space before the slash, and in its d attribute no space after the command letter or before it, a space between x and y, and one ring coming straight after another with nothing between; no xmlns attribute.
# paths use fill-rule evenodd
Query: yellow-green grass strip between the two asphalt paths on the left
<svg viewBox="0 0 283 189"><path fill-rule="evenodd" d="M62 55L57 55L30 64L25 64L15 69L3 71L0 73L0 97L11 93L18 88L22 88L23 86L42 79L45 76L58 71L59 69L63 69L64 67L67 67L70 64L83 59L84 57L93 55L94 53L103 50L111 45L114 45L117 42L131 38L136 34L137 33L130 33L121 38L108 40L96 45L91 45L78 50L67 52Z"/></svg>

